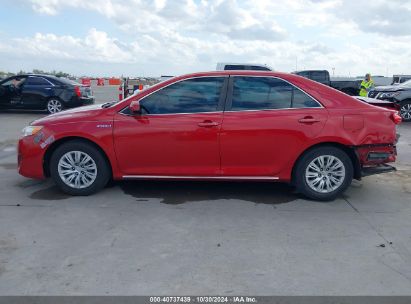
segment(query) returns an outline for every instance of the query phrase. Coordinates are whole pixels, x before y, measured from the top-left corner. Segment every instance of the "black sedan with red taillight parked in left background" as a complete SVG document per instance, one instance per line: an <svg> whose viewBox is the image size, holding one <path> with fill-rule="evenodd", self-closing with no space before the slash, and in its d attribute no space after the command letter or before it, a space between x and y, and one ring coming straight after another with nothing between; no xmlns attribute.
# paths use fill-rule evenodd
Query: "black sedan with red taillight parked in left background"
<svg viewBox="0 0 411 304"><path fill-rule="evenodd" d="M0 108L36 109L57 113L93 104L90 87L50 75L17 75L0 81Z"/></svg>

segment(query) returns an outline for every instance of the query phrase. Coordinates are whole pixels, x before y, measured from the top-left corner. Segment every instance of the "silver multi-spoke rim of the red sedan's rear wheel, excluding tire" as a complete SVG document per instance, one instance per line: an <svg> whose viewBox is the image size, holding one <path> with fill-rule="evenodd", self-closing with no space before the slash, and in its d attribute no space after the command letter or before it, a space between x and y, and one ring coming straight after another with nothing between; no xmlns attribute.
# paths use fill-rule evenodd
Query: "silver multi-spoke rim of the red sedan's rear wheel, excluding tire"
<svg viewBox="0 0 411 304"><path fill-rule="evenodd" d="M313 159L305 170L307 185L319 193L330 193L344 183L345 166L332 155L321 155Z"/></svg>

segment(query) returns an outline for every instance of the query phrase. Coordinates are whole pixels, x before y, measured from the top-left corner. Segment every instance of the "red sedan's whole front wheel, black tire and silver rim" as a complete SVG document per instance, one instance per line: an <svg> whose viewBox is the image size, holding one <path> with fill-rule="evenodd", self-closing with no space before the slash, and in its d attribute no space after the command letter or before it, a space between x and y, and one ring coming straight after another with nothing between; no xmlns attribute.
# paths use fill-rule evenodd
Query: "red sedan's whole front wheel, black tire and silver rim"
<svg viewBox="0 0 411 304"><path fill-rule="evenodd" d="M53 152L50 175L63 192L85 196L104 188L110 179L111 170L96 147L85 141L74 140L63 143Z"/></svg>

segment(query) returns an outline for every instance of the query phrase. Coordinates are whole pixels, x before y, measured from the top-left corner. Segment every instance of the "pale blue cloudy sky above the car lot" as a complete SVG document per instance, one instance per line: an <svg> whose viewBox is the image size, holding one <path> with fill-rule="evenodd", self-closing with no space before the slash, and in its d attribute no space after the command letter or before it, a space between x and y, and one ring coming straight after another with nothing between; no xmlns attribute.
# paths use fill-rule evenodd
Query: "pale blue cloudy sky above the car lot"
<svg viewBox="0 0 411 304"><path fill-rule="evenodd" d="M411 74L411 0L2 0L0 71Z"/></svg>

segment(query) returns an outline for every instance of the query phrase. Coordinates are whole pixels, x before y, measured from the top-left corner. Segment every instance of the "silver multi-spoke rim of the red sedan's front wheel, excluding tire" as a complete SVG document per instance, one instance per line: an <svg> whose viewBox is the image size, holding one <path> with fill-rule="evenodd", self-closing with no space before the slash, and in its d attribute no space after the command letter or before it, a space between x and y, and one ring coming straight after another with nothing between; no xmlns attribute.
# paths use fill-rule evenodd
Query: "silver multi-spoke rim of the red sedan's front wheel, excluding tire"
<svg viewBox="0 0 411 304"><path fill-rule="evenodd" d="M70 151L64 154L57 168L61 180L71 188L87 188L97 178L95 161L82 151Z"/></svg>

